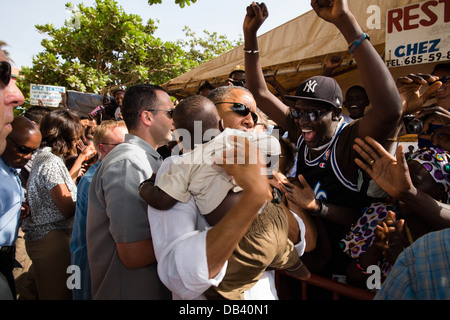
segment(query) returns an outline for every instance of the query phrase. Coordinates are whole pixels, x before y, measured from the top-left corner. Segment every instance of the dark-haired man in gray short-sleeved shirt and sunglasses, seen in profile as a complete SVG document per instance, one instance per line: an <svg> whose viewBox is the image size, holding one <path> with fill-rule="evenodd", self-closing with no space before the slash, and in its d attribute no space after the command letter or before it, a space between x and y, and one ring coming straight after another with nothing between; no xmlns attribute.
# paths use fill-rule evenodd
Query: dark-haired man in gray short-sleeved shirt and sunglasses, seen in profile
<svg viewBox="0 0 450 320"><path fill-rule="evenodd" d="M171 299L157 274L139 184L161 165L156 149L172 138L174 108L163 88L129 88L122 116L129 134L102 161L89 188L87 249L93 299Z"/></svg>

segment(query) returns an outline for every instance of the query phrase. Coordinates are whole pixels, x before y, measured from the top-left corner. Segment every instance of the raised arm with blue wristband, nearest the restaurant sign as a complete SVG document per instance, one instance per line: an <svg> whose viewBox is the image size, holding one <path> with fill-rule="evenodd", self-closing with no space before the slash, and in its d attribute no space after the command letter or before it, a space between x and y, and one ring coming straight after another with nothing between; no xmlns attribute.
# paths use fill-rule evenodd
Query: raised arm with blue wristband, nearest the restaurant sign
<svg viewBox="0 0 450 320"><path fill-rule="evenodd" d="M347 0L335 0L330 7L321 7L318 0L311 6L319 17L334 24L349 45L360 40L364 34L354 15L350 12ZM367 39L353 50L363 87L366 89L372 108L361 119L359 136L370 135L377 141L384 141L397 135L402 117L402 104L395 81L389 70Z"/></svg>

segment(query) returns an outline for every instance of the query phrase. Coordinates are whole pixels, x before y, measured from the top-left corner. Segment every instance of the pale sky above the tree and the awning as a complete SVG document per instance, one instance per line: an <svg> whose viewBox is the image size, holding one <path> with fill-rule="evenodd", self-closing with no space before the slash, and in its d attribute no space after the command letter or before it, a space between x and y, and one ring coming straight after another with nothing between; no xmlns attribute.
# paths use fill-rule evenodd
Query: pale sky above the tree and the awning
<svg viewBox="0 0 450 320"><path fill-rule="evenodd" d="M189 26L198 36L203 30L224 34L229 40L242 36L245 8L250 0L197 0L180 8L174 0L162 0L162 4L149 6L147 0L116 0L126 13L138 14L143 22L159 20L155 35L163 41L175 41L184 37L183 28ZM15 67L31 66L32 57L40 51L43 35L36 24L63 25L72 13L65 3L84 3L93 6L95 0L0 0L0 40L8 43L6 48L15 62ZM261 27L259 35L288 22L311 9L306 0L266 0L269 18Z"/></svg>

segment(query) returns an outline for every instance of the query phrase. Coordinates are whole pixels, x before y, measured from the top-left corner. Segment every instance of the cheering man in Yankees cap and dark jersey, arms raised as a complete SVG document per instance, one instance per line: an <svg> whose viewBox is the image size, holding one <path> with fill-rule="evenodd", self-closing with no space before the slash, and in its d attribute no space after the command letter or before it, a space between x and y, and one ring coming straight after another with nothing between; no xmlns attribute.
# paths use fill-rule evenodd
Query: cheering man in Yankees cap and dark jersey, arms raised
<svg viewBox="0 0 450 320"><path fill-rule="evenodd" d="M311 6L319 18L334 24L349 44L372 108L361 119L345 124L341 89L334 79L323 76L300 84L295 95L289 97L295 100L294 107L289 108L275 97L264 81L259 58L264 53L258 48L257 31L268 17L264 4L252 3L244 20L247 88L258 107L287 129L291 141L297 143L296 176L302 187L294 188L284 180L284 191L299 207L320 218L327 230L329 241L323 237L321 241L331 245L331 258L327 261L325 255L317 253L318 246L310 254L313 258L318 254L314 260L319 262L317 268L305 263L312 266L312 272L345 274L349 260L343 256L339 242L369 200L358 184L361 176L353 160L353 141L368 135L390 148L389 139L399 131L402 105L391 74L348 9L347 1L335 0L330 6L322 6L313 0Z"/></svg>

